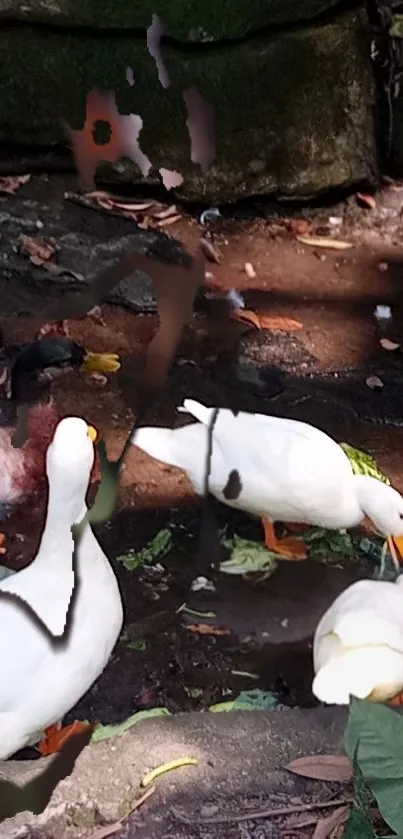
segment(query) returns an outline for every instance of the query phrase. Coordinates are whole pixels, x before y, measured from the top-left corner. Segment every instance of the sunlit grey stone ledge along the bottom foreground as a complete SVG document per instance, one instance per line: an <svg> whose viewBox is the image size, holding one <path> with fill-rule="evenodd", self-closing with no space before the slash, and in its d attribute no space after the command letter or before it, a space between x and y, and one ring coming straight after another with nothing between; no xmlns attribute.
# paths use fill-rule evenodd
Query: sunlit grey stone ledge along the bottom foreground
<svg viewBox="0 0 403 839"><path fill-rule="evenodd" d="M157 781L157 801L153 799L150 808L157 810L157 836L165 835L172 805L192 813L218 803L228 812L231 801L240 798L245 806L245 800L247 805L248 800L277 793L292 796L303 790L320 795L317 781L298 778L284 767L303 754L340 753L346 720L345 708L192 713L146 720L114 740L90 744L44 813L7 819L0 824L0 839L22 839L29 827L41 829L42 837L67 839L82 836L91 825L114 822L132 809L146 772L185 756L195 757L197 765L168 772ZM34 767L28 762L0 763L0 778L24 784L43 765L44 760ZM149 829L148 835L154 836L154 831Z"/></svg>

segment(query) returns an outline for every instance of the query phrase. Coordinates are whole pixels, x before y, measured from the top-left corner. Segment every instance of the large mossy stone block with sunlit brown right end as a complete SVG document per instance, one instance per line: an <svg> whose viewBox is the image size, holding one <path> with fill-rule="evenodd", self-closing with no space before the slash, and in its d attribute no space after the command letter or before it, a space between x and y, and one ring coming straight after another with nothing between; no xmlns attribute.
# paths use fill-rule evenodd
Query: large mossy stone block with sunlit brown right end
<svg viewBox="0 0 403 839"><path fill-rule="evenodd" d="M62 119L83 124L94 87L117 91L122 113L144 121L140 144L158 168L185 177L180 194L234 200L276 193L309 197L376 172L367 19L349 12L211 51L164 50L172 85L163 90L145 41L12 28L0 39L0 141L63 141ZM126 67L137 83L125 82ZM216 159L206 174L190 161L182 91L195 85L214 107ZM134 164L119 177L141 180Z"/></svg>

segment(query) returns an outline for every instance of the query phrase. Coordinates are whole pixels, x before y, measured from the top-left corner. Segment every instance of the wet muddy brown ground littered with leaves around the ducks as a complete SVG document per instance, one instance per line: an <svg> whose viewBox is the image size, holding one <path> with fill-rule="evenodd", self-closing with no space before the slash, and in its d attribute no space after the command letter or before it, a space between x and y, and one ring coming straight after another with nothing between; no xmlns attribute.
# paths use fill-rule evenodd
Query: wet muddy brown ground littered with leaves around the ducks
<svg viewBox="0 0 403 839"><path fill-rule="evenodd" d="M83 229L92 242L137 235L134 221L75 205L66 209L63 196L71 188L67 181L33 178L16 195L0 199L4 230L11 237L10 276L18 274L20 285L29 283L30 276L40 285L36 272L44 271L29 265L13 245L24 213L33 227L40 215L45 239L50 230L56 235L55 219L61 230L67 216L70 242L80 231L84 235ZM393 319L385 335L397 344L403 340L400 203L390 211L389 233L381 225L379 207L370 224L370 211L353 211L351 202L342 211L318 211L308 221L301 211L305 228L300 229L308 224L310 232L327 235L332 230L329 219L340 212L337 237L354 243L344 251L301 244L295 212L293 224L277 217L223 218L210 225L210 240L221 262L207 265L206 287L198 295L166 394L150 419L158 424L178 422L175 406L187 396L303 419L368 451L403 490L403 356L400 346L394 351L382 347L383 334L373 317L377 304L389 304ZM169 236L191 252L202 232L206 231L185 212L169 227ZM144 231L138 235L144 236ZM253 279L245 273L245 263L254 266ZM60 277L57 282L60 285ZM244 294L248 308L294 318L302 328L258 332L231 322L223 303L223 291L230 288ZM14 314L11 306L7 316L0 317L6 343L33 337L37 326L24 310L26 303L19 307L17 298ZM79 405L80 413L99 427L113 457L135 419L136 376L158 328L150 299L143 307L148 314L142 313L141 301L137 308L133 305L132 295L129 303L121 301L124 305L104 305L104 323L89 318L69 322L71 336L89 349L119 352L122 369L103 384L74 374L52 386L60 414L75 413ZM377 389L368 385L374 375L381 380ZM5 561L11 567L24 566L34 555L45 501L38 498L34 505L23 505L5 522ZM258 522L218 505L216 511L220 527L229 535L261 538ZM116 722L159 705L171 711L206 709L254 688L274 691L284 704L315 704L310 685L316 623L346 585L375 573L374 562L340 556L329 557L329 563L280 562L269 579L253 583L214 571L208 558L200 557L200 522L200 505L186 477L133 448L122 475L119 509L98 529L121 584L125 629L104 675L70 718ZM167 527L172 547L158 562L127 571L116 561ZM191 591L192 581L201 574L214 582L215 592ZM180 610L184 604L197 613L215 615L206 618Z"/></svg>

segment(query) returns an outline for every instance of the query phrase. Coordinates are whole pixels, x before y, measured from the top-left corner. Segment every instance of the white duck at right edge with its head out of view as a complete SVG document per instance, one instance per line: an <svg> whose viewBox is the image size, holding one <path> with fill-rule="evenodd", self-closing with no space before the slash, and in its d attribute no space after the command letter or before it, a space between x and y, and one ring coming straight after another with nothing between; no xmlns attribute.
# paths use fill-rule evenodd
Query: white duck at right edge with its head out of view
<svg viewBox="0 0 403 839"><path fill-rule="evenodd" d="M403 691L403 575L360 580L337 597L315 632L312 690L327 704L350 694L378 702ZM400 702L399 702L400 704Z"/></svg>

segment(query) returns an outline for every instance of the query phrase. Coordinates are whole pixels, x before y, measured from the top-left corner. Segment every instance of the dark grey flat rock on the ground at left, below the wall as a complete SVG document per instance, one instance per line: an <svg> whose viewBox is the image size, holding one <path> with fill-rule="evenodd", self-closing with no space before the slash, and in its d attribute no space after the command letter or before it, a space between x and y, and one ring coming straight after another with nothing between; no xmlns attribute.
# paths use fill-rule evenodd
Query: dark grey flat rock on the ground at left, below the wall
<svg viewBox="0 0 403 839"><path fill-rule="evenodd" d="M155 255L167 263L186 265L189 259L174 239L158 230L140 230L129 219L97 213L66 201L74 190L74 176L33 178L22 192L0 199L0 301L3 316L32 314L60 303L66 294L79 293L90 276L115 263L123 252ZM21 250L20 235L53 239L57 244L56 271L34 266ZM60 271L60 269L65 269ZM134 312L157 311L152 279L141 271L122 280L106 302Z"/></svg>

